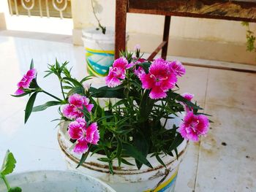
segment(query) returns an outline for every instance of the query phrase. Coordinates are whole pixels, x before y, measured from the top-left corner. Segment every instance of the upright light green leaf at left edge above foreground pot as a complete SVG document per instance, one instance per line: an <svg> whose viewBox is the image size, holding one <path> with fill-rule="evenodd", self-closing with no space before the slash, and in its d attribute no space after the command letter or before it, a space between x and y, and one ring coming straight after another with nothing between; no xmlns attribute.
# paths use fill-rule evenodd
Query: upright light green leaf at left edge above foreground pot
<svg viewBox="0 0 256 192"><path fill-rule="evenodd" d="M1 174L7 175L13 172L15 169L16 160L10 150L7 150L7 153L4 158L3 165L1 166Z"/></svg>

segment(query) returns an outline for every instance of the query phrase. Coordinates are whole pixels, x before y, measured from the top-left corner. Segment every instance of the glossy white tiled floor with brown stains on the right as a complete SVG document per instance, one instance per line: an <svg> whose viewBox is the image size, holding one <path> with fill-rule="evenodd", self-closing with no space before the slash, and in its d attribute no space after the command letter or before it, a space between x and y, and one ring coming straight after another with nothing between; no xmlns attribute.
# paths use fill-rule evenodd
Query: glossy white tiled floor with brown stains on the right
<svg viewBox="0 0 256 192"><path fill-rule="evenodd" d="M42 81L43 71L55 58L70 61L78 77L86 74L83 47L67 42L8 37L0 33L0 159L9 148L18 164L16 172L35 169L65 169L59 151L56 109L34 113L23 125L26 99L10 94L34 58L38 82L58 94L58 81ZM256 191L256 74L187 66L180 78L180 92L195 99L213 115L208 137L189 143L181 163L176 191ZM37 104L44 102L39 96Z"/></svg>

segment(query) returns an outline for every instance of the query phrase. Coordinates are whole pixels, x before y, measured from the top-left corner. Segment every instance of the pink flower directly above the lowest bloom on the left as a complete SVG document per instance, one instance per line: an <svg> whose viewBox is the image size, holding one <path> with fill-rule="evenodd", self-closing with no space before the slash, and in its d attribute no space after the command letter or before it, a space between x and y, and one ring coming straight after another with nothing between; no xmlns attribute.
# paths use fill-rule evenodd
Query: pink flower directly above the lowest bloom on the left
<svg viewBox="0 0 256 192"><path fill-rule="evenodd" d="M62 113L69 119L82 118L83 112L80 112L80 110L83 110L83 106L91 112L94 104L89 104L89 99L86 96L80 96L75 93L72 94L72 96L69 96L69 104L64 105Z"/></svg>

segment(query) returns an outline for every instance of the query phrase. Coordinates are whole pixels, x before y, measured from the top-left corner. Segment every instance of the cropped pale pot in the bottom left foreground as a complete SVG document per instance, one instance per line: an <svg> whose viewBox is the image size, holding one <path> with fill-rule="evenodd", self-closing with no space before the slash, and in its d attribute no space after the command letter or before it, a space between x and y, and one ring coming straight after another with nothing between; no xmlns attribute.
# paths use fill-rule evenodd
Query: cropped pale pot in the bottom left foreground
<svg viewBox="0 0 256 192"><path fill-rule="evenodd" d="M77 172L37 171L7 175L12 187L18 186L24 192L115 192L102 181ZM0 192L6 192L4 182L0 180Z"/></svg>

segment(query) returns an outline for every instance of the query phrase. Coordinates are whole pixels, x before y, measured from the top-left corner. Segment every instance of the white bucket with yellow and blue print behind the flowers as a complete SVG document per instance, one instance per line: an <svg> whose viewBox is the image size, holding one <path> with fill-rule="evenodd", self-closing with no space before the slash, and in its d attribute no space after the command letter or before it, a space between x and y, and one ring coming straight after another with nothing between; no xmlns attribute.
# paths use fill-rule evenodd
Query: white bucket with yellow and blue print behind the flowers
<svg viewBox="0 0 256 192"><path fill-rule="evenodd" d="M96 77L106 76L109 66L114 61L115 31L108 27L106 34L95 28L83 29L82 32L87 72Z"/></svg>

